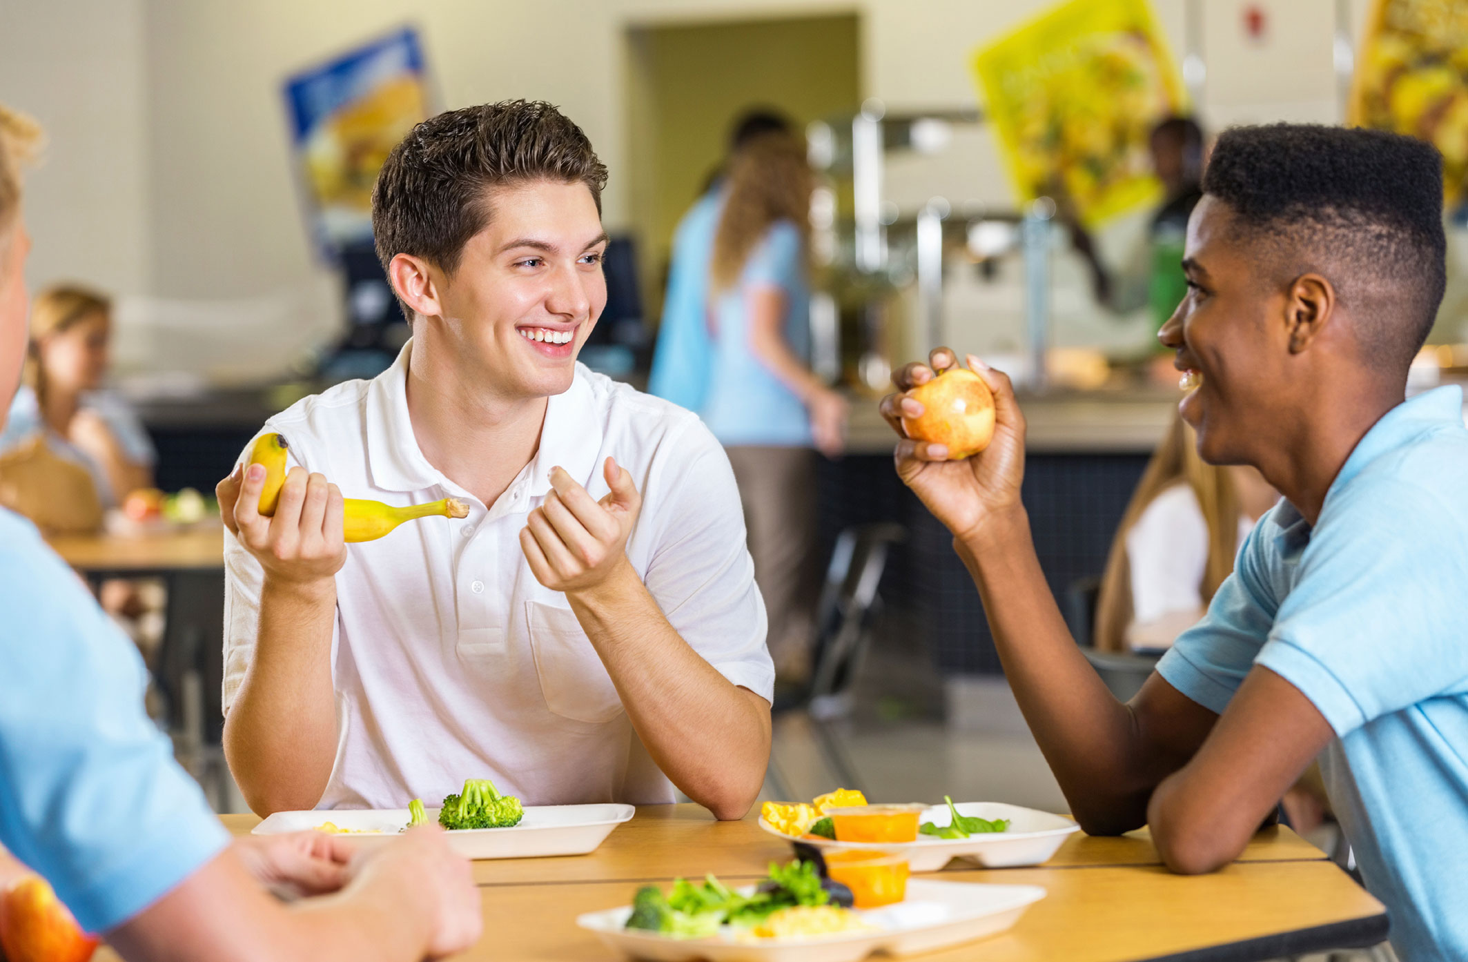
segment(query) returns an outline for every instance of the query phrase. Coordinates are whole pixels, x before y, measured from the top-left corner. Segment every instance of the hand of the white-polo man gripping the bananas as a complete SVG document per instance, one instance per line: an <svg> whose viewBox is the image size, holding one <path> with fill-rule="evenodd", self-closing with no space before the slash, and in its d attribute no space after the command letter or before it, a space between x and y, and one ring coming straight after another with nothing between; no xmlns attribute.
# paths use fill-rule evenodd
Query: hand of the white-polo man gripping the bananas
<svg viewBox="0 0 1468 962"><path fill-rule="evenodd" d="M225 527L277 583L324 582L346 563L345 511L341 489L324 474L292 467L280 486L275 517L260 514L266 470L258 464L235 469L219 482L219 514Z"/></svg>

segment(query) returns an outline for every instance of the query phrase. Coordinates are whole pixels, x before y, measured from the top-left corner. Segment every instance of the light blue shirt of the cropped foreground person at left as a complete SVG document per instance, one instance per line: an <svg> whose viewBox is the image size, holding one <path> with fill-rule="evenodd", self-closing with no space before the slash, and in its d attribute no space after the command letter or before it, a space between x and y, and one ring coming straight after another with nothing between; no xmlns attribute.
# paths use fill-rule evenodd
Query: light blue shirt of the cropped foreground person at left
<svg viewBox="0 0 1468 962"><path fill-rule="evenodd" d="M138 649L0 510L0 845L107 931L229 843L142 709Z"/></svg>

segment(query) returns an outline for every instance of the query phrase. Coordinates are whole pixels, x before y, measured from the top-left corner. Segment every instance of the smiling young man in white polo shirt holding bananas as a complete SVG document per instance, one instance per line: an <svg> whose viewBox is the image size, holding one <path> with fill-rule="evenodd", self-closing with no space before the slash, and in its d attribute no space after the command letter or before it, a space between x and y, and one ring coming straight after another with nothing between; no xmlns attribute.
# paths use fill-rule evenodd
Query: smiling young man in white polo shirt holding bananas
<svg viewBox="0 0 1468 962"><path fill-rule="evenodd" d="M749 811L774 670L728 460L690 413L575 364L606 303L586 135L549 104L420 123L373 195L413 325L390 370L264 430L220 483L225 751L258 812L436 802ZM329 479L329 480L327 480ZM342 542L342 492L468 517Z"/></svg>

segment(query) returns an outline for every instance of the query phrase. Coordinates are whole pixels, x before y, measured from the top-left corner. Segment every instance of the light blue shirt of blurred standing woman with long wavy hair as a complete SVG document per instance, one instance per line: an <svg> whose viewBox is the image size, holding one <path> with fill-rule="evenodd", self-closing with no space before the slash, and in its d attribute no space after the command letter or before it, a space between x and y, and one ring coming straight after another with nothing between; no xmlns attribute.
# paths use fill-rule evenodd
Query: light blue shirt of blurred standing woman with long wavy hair
<svg viewBox="0 0 1468 962"><path fill-rule="evenodd" d="M785 344L796 357L810 361L810 288L800 231L788 220L777 220L750 253L738 283L719 295L713 377L699 414L725 446L809 448L806 405L749 345L746 295L760 286L784 292Z"/></svg>

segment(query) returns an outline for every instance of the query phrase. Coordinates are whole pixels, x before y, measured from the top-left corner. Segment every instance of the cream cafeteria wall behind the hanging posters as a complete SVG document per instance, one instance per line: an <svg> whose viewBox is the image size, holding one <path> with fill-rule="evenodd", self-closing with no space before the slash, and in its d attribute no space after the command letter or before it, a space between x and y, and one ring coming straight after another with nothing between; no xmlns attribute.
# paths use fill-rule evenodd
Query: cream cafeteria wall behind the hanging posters
<svg viewBox="0 0 1468 962"><path fill-rule="evenodd" d="M1183 48L1188 0L1154 0ZM1333 0L1205 0L1217 120L1333 120ZM895 109L973 103L972 50L1050 0L0 0L0 97L41 116L51 160L32 179L32 281L81 276L167 298L320 291L298 209L280 81L402 22L426 40L442 106L539 97L580 122L612 170L606 222L628 226L628 25L860 15L862 87ZM1349 0L1364 21L1367 0ZM920 201L1006 203L984 132L932 167L893 169ZM319 298L317 298L319 300Z"/></svg>

